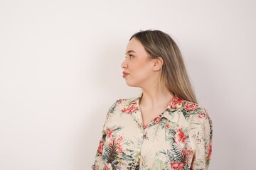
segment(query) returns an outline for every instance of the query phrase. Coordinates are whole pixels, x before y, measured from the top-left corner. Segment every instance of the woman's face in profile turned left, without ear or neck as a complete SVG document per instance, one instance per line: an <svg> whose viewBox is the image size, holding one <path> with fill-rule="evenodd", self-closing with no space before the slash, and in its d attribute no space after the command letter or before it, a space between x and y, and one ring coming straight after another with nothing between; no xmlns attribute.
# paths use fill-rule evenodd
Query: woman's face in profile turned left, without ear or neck
<svg viewBox="0 0 256 170"><path fill-rule="evenodd" d="M141 88L146 86L151 81L153 66L154 60L149 58L142 43L136 38L132 38L127 45L125 60L121 65L127 85Z"/></svg>

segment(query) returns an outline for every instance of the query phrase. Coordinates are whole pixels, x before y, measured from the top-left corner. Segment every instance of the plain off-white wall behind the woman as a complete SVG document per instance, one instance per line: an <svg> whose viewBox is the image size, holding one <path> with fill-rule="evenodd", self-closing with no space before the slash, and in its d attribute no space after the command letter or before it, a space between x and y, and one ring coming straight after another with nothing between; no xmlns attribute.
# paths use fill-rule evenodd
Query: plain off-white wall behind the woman
<svg viewBox="0 0 256 170"><path fill-rule="evenodd" d="M141 92L120 64L146 29L176 40L210 113L209 169L255 169L255 0L1 0L0 169L90 169L108 108Z"/></svg>

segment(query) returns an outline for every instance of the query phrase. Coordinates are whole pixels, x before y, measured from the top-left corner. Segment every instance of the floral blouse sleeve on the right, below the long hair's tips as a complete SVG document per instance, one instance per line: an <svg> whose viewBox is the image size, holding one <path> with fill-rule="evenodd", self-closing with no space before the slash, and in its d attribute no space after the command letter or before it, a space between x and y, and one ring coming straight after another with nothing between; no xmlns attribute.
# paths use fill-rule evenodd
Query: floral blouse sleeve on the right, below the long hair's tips
<svg viewBox="0 0 256 170"><path fill-rule="evenodd" d="M191 170L207 170L212 152L212 121L205 108L195 116L191 125L191 139L195 146Z"/></svg>

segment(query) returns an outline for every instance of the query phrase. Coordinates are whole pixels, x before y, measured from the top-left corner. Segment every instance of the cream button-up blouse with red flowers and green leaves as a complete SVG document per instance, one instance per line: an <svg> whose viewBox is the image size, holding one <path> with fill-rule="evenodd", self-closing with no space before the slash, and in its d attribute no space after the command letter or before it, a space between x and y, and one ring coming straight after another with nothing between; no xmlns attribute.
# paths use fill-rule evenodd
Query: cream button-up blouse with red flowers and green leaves
<svg viewBox="0 0 256 170"><path fill-rule="evenodd" d="M143 125L141 96L112 105L92 169L208 169L213 131L206 109L174 96L164 113Z"/></svg>

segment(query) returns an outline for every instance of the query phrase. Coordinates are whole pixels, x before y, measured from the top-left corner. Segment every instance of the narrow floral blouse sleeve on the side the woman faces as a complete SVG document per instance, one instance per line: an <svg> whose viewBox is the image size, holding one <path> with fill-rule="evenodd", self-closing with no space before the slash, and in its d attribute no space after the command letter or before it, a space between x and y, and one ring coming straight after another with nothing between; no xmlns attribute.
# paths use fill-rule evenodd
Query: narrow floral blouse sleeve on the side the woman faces
<svg viewBox="0 0 256 170"><path fill-rule="evenodd" d="M103 125L102 137L100 139L100 143L99 143L99 146L97 148L97 152L96 152L96 156L95 156L95 162L92 165L93 170L100 169L100 164L102 162L102 152L104 150L104 144L105 144L105 140L106 140L106 136L107 136L107 130L105 128L105 125L110 120L110 117L111 117L112 113L114 113L114 108L116 107L116 105L117 105L117 101L114 104L112 104L109 111L107 112L106 120L105 120L105 123Z"/></svg>

